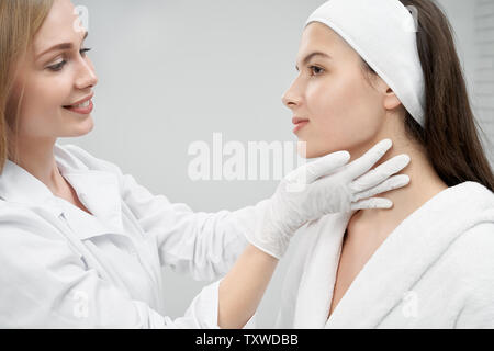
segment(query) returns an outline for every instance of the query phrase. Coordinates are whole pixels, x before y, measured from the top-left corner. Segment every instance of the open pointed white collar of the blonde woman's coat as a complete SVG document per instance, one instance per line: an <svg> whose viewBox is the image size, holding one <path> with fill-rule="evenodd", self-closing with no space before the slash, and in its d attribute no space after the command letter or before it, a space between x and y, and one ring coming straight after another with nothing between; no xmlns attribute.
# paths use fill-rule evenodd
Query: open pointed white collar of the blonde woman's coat
<svg viewBox="0 0 494 351"><path fill-rule="evenodd" d="M99 219L85 236L94 236L111 230L124 234L121 213L120 183L115 174L91 170L61 146L54 146L55 160L60 173L72 185L79 200L93 214L87 219ZM78 218L75 211L81 211L69 202L55 196L38 179L16 163L8 160L0 174L0 197L49 211L54 216ZM74 207L74 208L72 208ZM93 223L96 223L93 220ZM89 228L88 228L89 229Z"/></svg>

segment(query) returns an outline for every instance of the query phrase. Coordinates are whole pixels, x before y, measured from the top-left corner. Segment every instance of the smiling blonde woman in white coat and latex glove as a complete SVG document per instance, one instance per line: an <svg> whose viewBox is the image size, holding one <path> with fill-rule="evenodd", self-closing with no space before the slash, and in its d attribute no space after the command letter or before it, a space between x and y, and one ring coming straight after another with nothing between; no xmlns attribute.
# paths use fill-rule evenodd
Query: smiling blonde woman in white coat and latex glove
<svg viewBox="0 0 494 351"><path fill-rule="evenodd" d="M297 228L389 208L372 196L408 183L393 176L406 155L368 172L391 148L383 140L351 163L340 151L295 170L236 212L154 196L117 166L56 143L93 128L98 78L77 20L69 0L0 1L1 327L242 328ZM162 267L216 282L172 320Z"/></svg>

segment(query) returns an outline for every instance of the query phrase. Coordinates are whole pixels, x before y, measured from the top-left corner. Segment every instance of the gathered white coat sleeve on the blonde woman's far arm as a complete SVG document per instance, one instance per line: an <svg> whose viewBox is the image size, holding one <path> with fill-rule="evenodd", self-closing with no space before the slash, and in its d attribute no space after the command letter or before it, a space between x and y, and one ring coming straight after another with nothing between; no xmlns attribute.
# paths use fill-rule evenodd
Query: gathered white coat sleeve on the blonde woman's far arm
<svg viewBox="0 0 494 351"><path fill-rule="evenodd" d="M262 213L265 202L236 212L193 212L186 204L151 194L116 165L74 145L65 148L90 169L116 174L125 205L145 234L156 240L160 264L190 273L195 280L213 281L226 274L246 248L248 231L255 229L256 218Z"/></svg>

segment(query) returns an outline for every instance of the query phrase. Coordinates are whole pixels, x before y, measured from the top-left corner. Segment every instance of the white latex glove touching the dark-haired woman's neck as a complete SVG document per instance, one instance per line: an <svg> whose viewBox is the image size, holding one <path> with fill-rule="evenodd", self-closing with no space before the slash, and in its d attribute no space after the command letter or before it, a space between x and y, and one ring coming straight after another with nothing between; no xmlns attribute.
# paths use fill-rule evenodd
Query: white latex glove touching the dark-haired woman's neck
<svg viewBox="0 0 494 351"><path fill-rule="evenodd" d="M409 183L406 174L393 176L409 163L409 157L396 156L371 170L391 146L384 139L351 163L347 151L338 151L295 169L271 199L258 205L262 219L247 239L280 259L293 234L307 222L330 213L392 207L390 200L372 196Z"/></svg>

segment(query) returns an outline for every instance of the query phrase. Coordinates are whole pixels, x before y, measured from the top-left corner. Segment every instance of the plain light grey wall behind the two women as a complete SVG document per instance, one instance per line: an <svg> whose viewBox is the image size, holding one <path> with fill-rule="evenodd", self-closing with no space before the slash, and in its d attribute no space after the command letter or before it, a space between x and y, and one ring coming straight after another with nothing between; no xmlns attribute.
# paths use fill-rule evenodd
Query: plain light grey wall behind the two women
<svg viewBox="0 0 494 351"><path fill-rule="evenodd" d="M493 1L440 1L457 34L472 103L491 136L494 93L490 95L489 80L478 80L494 72L491 49L483 49L494 45L489 30L494 24L494 16L489 16ZM87 46L92 47L89 55L100 79L93 100L96 128L60 143L79 145L119 165L153 193L194 211L236 210L270 196L276 181L192 182L188 147L195 140L212 145L215 132L223 133L224 143L295 141L281 95L296 73L303 24L323 2L75 1L89 9ZM475 27L479 16L486 23L481 32ZM486 43L479 43L479 37ZM486 69L482 75L480 57ZM296 240L262 299L259 327L273 326ZM205 283L169 270L164 274L168 315L179 317Z"/></svg>

